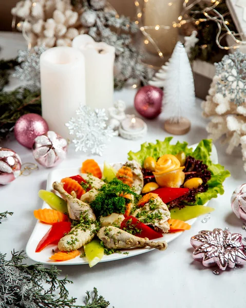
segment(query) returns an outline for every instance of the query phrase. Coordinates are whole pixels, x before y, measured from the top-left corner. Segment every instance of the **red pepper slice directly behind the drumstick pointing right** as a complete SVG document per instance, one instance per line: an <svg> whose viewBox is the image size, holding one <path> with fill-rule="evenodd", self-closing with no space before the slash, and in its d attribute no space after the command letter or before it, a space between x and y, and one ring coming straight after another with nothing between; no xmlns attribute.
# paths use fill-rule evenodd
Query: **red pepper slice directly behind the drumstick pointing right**
<svg viewBox="0 0 246 308"><path fill-rule="evenodd" d="M126 217L122 223L121 223L121 229L127 229L128 230L141 230L140 232L134 233L135 236L141 237L141 238L148 238L149 240L158 239L160 237L163 237L163 235L160 232L157 232L135 218L134 216L128 216Z"/></svg>

